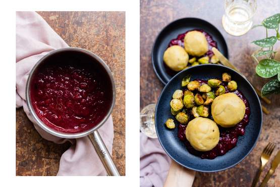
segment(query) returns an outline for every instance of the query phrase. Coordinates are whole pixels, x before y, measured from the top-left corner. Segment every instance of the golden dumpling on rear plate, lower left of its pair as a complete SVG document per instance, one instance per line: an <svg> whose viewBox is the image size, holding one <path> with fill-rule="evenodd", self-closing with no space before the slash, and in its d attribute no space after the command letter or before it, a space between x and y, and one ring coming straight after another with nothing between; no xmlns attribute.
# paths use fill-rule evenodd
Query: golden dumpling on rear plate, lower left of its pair
<svg viewBox="0 0 280 187"><path fill-rule="evenodd" d="M163 61L174 71L181 71L188 65L189 55L179 45L173 45L163 54Z"/></svg>

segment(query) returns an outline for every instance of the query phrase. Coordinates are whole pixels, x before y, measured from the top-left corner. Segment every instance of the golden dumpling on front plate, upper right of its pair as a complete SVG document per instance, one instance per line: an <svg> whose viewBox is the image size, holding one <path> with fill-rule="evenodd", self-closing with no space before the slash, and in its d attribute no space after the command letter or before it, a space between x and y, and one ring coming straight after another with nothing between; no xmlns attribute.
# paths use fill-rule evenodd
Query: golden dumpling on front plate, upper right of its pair
<svg viewBox="0 0 280 187"><path fill-rule="evenodd" d="M220 126L233 127L244 118L245 108L245 104L236 94L228 93L214 99L211 113Z"/></svg>

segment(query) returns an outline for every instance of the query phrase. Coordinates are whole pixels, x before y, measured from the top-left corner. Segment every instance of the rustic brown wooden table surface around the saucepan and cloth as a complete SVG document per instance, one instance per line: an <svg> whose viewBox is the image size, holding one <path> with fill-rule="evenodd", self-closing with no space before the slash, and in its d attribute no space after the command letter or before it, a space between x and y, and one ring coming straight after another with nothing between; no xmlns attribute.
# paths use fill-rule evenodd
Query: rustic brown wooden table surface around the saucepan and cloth
<svg viewBox="0 0 280 187"><path fill-rule="evenodd" d="M113 71L113 160L125 175L125 12L38 12L70 46L101 57ZM57 175L60 157L70 144L43 139L22 108L16 111L16 174Z"/></svg>

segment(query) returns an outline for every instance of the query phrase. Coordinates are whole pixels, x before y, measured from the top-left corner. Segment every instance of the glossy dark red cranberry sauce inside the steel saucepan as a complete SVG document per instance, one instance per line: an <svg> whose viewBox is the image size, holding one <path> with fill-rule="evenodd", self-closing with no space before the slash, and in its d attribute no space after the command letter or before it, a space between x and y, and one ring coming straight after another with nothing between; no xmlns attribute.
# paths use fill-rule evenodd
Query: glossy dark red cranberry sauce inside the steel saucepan
<svg viewBox="0 0 280 187"><path fill-rule="evenodd" d="M82 132L98 124L109 110L111 83L103 67L90 63L47 63L34 77L33 108L52 129Z"/></svg>

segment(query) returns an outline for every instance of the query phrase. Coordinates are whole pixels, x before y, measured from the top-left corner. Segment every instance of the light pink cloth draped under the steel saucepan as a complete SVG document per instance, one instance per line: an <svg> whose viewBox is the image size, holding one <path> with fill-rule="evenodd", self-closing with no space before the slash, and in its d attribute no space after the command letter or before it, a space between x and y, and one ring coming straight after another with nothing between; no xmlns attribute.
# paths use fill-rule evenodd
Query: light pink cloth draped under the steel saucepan
<svg viewBox="0 0 280 187"><path fill-rule="evenodd" d="M52 50L67 48L68 44L55 33L35 12L17 12L16 14L16 107L22 107L27 117L34 123L26 105L25 86L31 68ZM105 175L88 137L65 139L46 133L34 123L40 135L54 143L66 141L73 145L62 155L58 175ZM114 126L111 117L99 128L109 153L112 153Z"/></svg>

